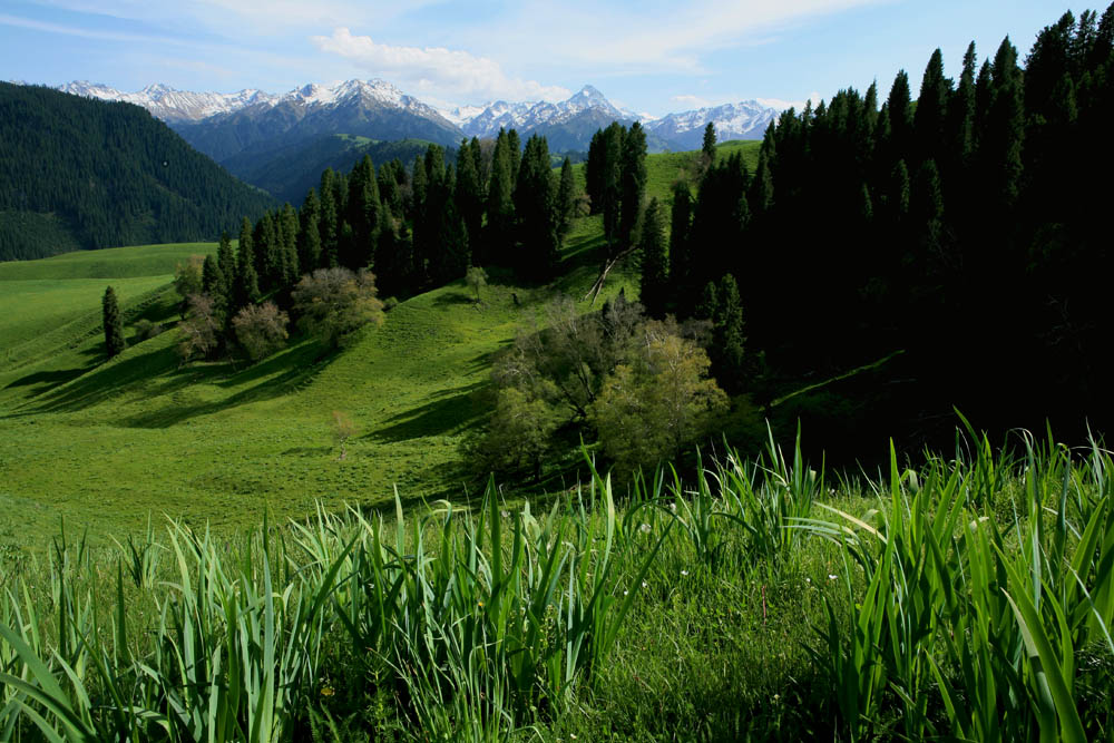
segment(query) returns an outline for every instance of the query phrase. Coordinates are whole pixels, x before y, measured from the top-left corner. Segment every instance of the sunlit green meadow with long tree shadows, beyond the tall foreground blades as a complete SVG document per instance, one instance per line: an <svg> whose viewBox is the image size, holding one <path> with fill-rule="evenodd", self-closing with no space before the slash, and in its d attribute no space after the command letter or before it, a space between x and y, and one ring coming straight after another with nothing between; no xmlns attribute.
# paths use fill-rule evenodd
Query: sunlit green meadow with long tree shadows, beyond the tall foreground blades
<svg viewBox="0 0 1114 743"><path fill-rule="evenodd" d="M100 295L109 282L81 277L98 256L22 264L23 275L42 277L3 284L16 290L2 301L12 310L3 338L26 340L4 343L11 360L0 366L0 541L9 534L45 545L60 518L102 541L140 529L149 514L233 534L267 510L285 518L315 501L373 505L395 486L407 504L459 492L458 444L488 412L479 393L491 355L555 292L585 294L598 270L596 223L574 231L569 271L554 286L519 286L495 272L479 304L458 282L399 304L380 331L340 353L295 340L253 366L179 368L174 331L104 363ZM102 251L98 265L162 271L196 248ZM168 281L111 278L129 329L140 315L173 325ZM42 293L32 296L32 286ZM605 294L624 286L633 291L620 272ZM43 307L59 319L40 316ZM358 428L343 461L334 410Z"/></svg>

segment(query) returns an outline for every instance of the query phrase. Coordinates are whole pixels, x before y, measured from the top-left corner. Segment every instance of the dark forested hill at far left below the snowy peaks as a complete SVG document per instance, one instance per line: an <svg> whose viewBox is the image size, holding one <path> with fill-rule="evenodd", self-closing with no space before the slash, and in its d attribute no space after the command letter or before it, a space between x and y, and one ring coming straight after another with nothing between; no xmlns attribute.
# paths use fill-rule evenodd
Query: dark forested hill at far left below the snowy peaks
<svg viewBox="0 0 1114 743"><path fill-rule="evenodd" d="M273 204L138 106L0 82L0 260L215 238Z"/></svg>

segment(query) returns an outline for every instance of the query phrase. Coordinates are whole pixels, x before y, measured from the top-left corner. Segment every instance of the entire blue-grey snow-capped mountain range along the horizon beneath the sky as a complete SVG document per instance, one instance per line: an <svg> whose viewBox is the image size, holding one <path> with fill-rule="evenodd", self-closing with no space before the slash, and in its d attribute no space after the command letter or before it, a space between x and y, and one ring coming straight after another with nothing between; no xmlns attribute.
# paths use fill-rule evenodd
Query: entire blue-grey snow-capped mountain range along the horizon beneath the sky
<svg viewBox="0 0 1114 743"><path fill-rule="evenodd" d="M524 141L534 134L545 136L553 153L583 153L597 129L612 121L641 121L651 151L687 150L700 146L709 121L715 124L720 140L758 139L779 115L778 109L745 100L653 118L615 106L590 85L557 102L498 100L451 110L438 109L381 79L310 84L282 95L255 89L190 92L166 85L125 92L84 81L58 89L141 106L232 174L293 202L304 195L296 189L320 174L313 168L342 158L346 167L353 162L348 158L363 156L353 138L363 140L364 148L408 140L424 149L428 143L453 147L465 137L494 137L500 128L515 128ZM368 154L375 159L387 151L398 148ZM272 166L280 157L282 169L290 174L276 180ZM266 182L262 173L270 174Z"/></svg>

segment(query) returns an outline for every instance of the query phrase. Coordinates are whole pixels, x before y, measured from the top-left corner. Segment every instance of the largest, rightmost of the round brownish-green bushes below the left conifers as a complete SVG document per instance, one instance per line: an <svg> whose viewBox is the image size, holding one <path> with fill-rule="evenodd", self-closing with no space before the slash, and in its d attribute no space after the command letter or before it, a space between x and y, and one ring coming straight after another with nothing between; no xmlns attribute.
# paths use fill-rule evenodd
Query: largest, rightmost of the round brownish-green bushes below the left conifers
<svg viewBox="0 0 1114 743"><path fill-rule="evenodd" d="M364 268L317 268L294 287L294 311L304 332L335 349L358 330L383 324L375 294L375 277Z"/></svg>

